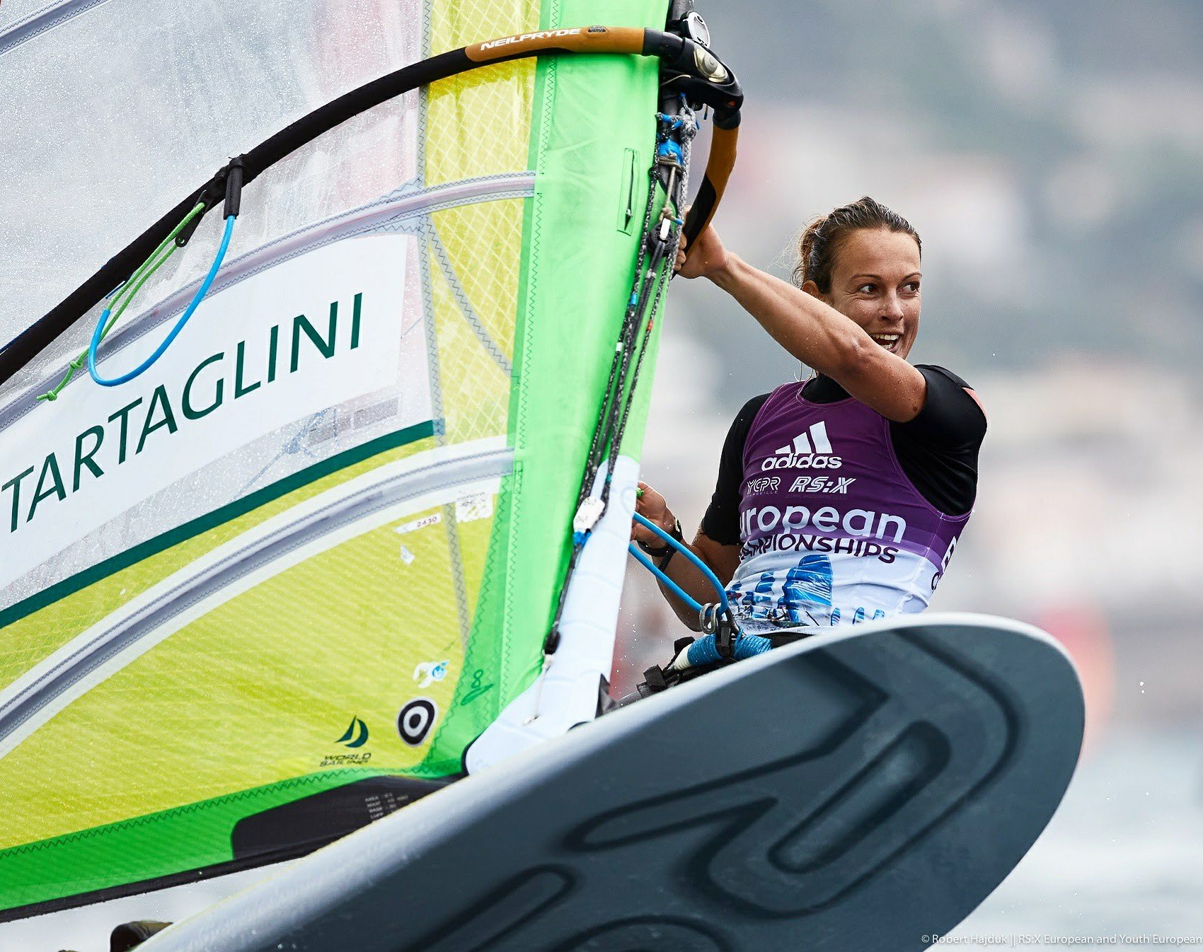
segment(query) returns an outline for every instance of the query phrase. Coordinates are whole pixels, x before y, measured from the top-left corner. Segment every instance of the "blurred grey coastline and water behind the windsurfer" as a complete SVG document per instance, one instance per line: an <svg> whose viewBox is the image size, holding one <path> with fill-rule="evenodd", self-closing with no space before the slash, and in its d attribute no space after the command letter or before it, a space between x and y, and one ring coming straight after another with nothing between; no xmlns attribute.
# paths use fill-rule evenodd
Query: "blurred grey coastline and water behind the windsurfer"
<svg viewBox="0 0 1203 952"><path fill-rule="evenodd" d="M788 278L805 222L866 194L923 236L912 359L989 415L932 609L1041 625L1086 684L1065 805L956 934L1203 936L1203 5L699 6L747 91L728 246ZM674 282L644 475L687 535L737 409L800 373L717 288ZM616 692L683 633L638 566L620 624ZM261 875L0 926L0 950L100 950Z"/></svg>

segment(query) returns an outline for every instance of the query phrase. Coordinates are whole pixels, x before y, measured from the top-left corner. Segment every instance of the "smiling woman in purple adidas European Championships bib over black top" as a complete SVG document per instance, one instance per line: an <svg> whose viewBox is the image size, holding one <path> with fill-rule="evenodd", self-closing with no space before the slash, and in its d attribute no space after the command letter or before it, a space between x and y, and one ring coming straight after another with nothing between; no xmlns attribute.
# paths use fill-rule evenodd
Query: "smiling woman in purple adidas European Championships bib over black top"
<svg viewBox="0 0 1203 952"><path fill-rule="evenodd" d="M968 383L906 357L919 331L920 251L901 215L864 197L802 234L796 286L699 237L685 278L709 278L814 376L748 400L723 446L689 548L748 632L873 620L928 607L968 522L985 415ZM638 512L681 539L641 483ZM633 537L701 603L713 589L650 529ZM663 589L663 587L662 587ZM698 613L665 591L693 630Z"/></svg>

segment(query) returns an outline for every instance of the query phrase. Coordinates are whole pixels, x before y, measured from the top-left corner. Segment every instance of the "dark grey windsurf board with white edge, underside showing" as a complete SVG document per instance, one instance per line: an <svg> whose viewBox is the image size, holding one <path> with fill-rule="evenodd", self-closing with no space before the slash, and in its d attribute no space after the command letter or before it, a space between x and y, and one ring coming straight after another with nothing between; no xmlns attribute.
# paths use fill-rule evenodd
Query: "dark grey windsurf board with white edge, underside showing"
<svg viewBox="0 0 1203 952"><path fill-rule="evenodd" d="M1039 835L1083 715L1027 625L841 629L469 777L144 947L921 950Z"/></svg>

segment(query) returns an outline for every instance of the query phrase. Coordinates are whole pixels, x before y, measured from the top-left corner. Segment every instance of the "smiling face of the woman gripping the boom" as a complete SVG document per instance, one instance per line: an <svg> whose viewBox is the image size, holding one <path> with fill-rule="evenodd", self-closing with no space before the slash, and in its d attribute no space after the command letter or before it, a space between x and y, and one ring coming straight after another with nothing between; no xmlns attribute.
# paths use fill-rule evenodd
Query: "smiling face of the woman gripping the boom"
<svg viewBox="0 0 1203 952"><path fill-rule="evenodd" d="M905 358L919 333L919 245L905 232L858 228L841 242L831 292L802 286L851 317L890 353Z"/></svg>

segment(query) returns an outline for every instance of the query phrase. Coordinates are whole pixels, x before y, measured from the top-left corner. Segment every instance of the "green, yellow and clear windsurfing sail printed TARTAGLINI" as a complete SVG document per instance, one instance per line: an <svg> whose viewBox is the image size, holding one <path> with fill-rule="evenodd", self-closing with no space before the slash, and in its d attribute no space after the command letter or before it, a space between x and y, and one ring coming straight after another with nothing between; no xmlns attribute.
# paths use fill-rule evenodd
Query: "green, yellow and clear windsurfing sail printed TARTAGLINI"
<svg viewBox="0 0 1203 952"><path fill-rule="evenodd" d="M180 82L195 63L172 83L164 29L243 70L254 30L295 11L265 7L260 24L211 10L197 34L178 5L105 4L0 54L18 90L0 119L54 83L89 90L87 168L70 148L41 162L93 189L128 174L112 130L134 136L144 103L97 90L67 50L144 59L148 85L179 99L156 114L185 118L148 120L164 165L143 163L112 228L112 203L31 221L19 190L0 195L0 219L29 228L0 337L89 273L88 254L61 255L64 221L84 249L128 239L202 178L167 161L195 161L194 125L211 169L377 75L597 16L583 0L315 0L286 50L259 49L278 55L262 64L277 95L238 111L220 69L211 90ZM609 25L664 17L650 0L606 8ZM369 109L247 188L226 267L153 369L36 399L97 308L0 388L0 916L310 850L457 775L532 683L633 276L639 227L621 212L646 197L657 69L517 61ZM105 370L166 334L218 219L143 288ZM100 243L91 269L118 246Z"/></svg>

